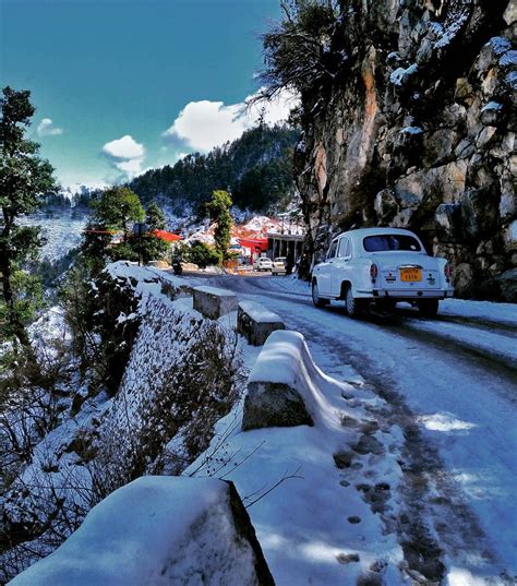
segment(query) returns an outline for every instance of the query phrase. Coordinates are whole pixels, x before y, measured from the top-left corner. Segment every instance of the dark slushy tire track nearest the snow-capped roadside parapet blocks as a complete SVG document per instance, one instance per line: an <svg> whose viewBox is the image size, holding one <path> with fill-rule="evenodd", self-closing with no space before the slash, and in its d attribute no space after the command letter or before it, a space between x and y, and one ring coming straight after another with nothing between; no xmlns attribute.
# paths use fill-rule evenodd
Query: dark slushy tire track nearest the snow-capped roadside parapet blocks
<svg viewBox="0 0 517 586"><path fill-rule="evenodd" d="M286 302L289 301L280 301ZM335 309L339 311L338 308ZM314 309L316 314L318 311ZM287 313L281 314L285 316ZM466 565L471 558L489 566L496 565L496 557L491 551L476 514L450 477L437 449L429 439L423 438L417 417L399 392L398 382L392 378L392 369L386 371L385 368L372 368L374 364L369 356L360 356L356 349L350 351L346 337L341 344L336 344L336 337L325 335L318 321L308 322L305 315L299 314L290 315L286 321L296 324L296 330L302 332L311 345L322 345L323 342L337 361L351 363L390 406L390 412L382 415L390 424L402 429L405 453L400 465L405 482L400 490L405 504L402 515L394 522L410 567L417 565L422 569L423 565L437 575L438 567L433 569L433 564L437 566L444 550L449 557L456 560L459 558ZM438 497L433 498L432 492ZM421 559L420 563L418 558Z"/></svg>

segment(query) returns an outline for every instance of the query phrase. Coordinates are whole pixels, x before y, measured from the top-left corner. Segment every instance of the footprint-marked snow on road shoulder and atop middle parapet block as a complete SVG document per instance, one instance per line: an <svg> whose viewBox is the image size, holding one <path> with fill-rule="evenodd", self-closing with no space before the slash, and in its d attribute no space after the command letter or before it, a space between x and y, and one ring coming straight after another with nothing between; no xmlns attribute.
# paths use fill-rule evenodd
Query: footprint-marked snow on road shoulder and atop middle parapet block
<svg viewBox="0 0 517 586"><path fill-rule="evenodd" d="M183 474L236 483L276 584L402 584L402 439L377 416L384 400L323 373L297 332L269 336L250 375L264 381L296 388L314 424L241 431L238 406Z"/></svg>

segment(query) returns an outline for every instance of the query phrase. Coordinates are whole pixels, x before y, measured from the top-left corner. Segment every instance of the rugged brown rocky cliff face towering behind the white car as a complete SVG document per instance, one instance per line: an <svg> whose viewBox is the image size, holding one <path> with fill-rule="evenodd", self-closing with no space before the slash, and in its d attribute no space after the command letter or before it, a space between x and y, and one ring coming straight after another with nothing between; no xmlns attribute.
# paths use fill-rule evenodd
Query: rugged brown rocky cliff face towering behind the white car
<svg viewBox="0 0 517 586"><path fill-rule="evenodd" d="M517 300L517 2L342 0L340 73L302 96L310 254L351 226L417 230L462 296Z"/></svg>

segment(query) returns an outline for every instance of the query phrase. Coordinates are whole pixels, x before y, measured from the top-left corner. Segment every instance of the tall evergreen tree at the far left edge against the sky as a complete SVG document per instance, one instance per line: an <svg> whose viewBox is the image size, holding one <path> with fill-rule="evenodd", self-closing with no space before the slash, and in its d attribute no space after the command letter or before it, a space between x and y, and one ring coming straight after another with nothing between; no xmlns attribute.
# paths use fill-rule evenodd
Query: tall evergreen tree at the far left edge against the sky
<svg viewBox="0 0 517 586"><path fill-rule="evenodd" d="M29 97L31 92L8 86L0 99L0 335L19 340L27 350L26 325L39 294L37 284L22 270L37 256L41 237L39 228L20 226L17 219L34 212L44 203L44 194L56 189L50 163L38 156L39 145L25 137L35 112Z"/></svg>

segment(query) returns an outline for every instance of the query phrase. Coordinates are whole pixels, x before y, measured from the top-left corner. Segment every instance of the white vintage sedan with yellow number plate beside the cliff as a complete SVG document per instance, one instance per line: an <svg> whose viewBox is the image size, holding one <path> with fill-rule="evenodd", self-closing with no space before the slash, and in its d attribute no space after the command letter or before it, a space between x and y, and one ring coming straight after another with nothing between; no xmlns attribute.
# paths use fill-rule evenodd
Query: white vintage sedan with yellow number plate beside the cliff
<svg viewBox="0 0 517 586"><path fill-rule="evenodd" d="M417 235L398 228L363 228L334 238L324 262L312 272L316 307L342 299L353 316L370 303L394 308L409 301L436 315L440 299L453 297L450 265L430 256Z"/></svg>

